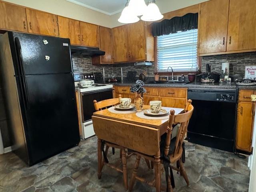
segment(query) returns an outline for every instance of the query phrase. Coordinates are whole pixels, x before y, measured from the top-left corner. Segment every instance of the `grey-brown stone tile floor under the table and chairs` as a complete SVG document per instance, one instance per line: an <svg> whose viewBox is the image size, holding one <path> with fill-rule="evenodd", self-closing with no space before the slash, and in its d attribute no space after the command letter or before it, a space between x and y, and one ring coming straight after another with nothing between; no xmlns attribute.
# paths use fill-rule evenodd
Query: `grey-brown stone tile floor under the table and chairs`
<svg viewBox="0 0 256 192"><path fill-rule="evenodd" d="M48 160L28 167L15 154L0 155L0 192L122 192L122 174L104 167L97 178L97 138L81 141L79 146ZM109 150L110 162L118 161ZM128 176L132 173L135 156L128 159ZM247 159L232 153L186 143L186 172L191 187L174 172L177 192L247 192L250 170ZM153 178L142 159L138 175ZM129 181L129 180L128 180ZM164 174L162 184L165 186ZM154 188L136 182L134 192L153 192Z"/></svg>

